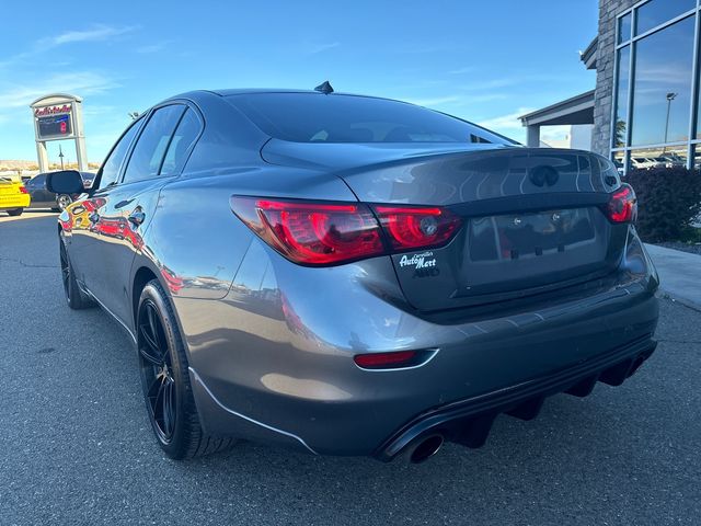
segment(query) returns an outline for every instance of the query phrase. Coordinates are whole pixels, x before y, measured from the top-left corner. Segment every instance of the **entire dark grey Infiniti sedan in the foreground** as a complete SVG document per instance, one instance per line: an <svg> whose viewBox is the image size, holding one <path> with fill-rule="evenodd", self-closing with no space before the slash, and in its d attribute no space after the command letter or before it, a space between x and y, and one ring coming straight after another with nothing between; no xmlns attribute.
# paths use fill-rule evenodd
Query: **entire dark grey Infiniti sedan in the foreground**
<svg viewBox="0 0 701 526"><path fill-rule="evenodd" d="M166 100L58 218L68 306L134 341L168 456L418 462L652 355L658 278L611 161L319 89Z"/></svg>

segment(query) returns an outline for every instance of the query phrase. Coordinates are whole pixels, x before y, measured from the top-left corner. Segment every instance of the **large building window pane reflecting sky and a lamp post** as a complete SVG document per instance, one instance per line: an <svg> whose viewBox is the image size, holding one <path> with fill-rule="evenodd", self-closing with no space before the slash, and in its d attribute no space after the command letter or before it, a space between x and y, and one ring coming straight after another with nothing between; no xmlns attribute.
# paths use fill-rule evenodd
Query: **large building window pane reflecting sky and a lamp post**
<svg viewBox="0 0 701 526"><path fill-rule="evenodd" d="M690 16L635 44L633 146L687 140L693 25Z"/></svg>

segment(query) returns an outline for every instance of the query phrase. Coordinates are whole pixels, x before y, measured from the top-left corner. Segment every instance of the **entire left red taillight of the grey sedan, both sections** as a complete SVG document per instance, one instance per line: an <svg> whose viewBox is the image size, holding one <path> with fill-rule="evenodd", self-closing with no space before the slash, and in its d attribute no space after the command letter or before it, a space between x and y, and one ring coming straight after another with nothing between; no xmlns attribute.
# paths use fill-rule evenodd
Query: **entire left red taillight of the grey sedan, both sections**
<svg viewBox="0 0 701 526"><path fill-rule="evenodd" d="M231 209L271 247L303 265L437 248L460 228L458 216L428 206L370 209L363 203L233 196Z"/></svg>

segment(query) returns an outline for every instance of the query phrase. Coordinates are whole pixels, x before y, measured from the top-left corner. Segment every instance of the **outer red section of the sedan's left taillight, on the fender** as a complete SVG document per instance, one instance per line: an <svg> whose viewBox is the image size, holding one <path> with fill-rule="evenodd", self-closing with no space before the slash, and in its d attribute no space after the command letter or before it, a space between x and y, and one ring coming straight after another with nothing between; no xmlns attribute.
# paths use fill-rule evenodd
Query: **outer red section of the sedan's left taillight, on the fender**
<svg viewBox="0 0 701 526"><path fill-rule="evenodd" d="M231 197L231 208L295 263L327 265L384 253L380 226L366 205Z"/></svg>

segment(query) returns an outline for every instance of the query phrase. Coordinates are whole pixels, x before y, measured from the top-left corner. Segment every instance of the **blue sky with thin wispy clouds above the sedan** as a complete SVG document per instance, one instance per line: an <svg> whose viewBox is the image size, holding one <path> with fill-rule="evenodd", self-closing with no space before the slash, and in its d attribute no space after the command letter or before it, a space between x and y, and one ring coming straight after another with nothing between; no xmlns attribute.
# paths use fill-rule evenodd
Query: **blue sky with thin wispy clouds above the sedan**
<svg viewBox="0 0 701 526"><path fill-rule="evenodd" d="M193 89L329 79L525 140L518 115L595 83L577 54L596 34L594 0L160 4L12 2L0 33L0 159L35 159L27 105L56 91L84 98L88 157L100 162L128 112Z"/></svg>

